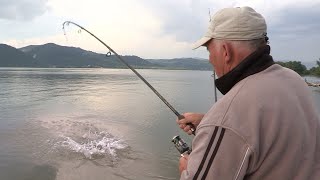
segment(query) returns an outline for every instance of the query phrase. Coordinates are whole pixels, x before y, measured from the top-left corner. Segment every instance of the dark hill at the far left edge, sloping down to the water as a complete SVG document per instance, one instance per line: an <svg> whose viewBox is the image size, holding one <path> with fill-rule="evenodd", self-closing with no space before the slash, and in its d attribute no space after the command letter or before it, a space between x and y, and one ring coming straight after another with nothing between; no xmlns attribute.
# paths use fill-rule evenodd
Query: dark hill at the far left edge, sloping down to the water
<svg viewBox="0 0 320 180"><path fill-rule="evenodd" d="M0 44L0 67L38 67L38 62L14 47Z"/></svg>

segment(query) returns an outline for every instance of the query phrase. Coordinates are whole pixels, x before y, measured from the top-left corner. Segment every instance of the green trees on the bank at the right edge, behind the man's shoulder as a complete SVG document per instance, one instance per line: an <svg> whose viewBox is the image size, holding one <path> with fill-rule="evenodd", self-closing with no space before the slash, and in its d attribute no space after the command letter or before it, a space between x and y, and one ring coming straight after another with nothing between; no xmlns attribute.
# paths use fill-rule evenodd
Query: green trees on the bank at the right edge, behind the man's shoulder
<svg viewBox="0 0 320 180"><path fill-rule="evenodd" d="M311 75L311 76L320 77L320 58L317 61L317 65L315 67L312 67L309 70L300 61L288 61L288 62L278 61L276 63L280 64L283 67L292 69L300 75Z"/></svg>

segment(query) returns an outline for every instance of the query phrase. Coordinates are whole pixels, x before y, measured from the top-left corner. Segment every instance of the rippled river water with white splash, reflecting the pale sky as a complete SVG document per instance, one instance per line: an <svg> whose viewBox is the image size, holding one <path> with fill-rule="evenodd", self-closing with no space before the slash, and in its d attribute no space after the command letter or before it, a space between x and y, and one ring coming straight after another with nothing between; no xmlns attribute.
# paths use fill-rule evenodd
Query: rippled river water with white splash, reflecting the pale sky
<svg viewBox="0 0 320 180"><path fill-rule="evenodd" d="M138 71L180 113L214 103L212 72ZM171 138L191 142L126 69L0 68L0 102L1 180L178 179Z"/></svg>

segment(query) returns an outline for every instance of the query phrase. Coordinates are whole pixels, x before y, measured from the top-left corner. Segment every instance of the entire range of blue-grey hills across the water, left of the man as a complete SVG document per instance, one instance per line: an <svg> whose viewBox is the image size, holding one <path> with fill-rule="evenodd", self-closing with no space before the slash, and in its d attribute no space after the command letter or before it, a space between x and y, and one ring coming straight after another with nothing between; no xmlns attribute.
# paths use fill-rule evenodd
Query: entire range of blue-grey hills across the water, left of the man
<svg viewBox="0 0 320 180"><path fill-rule="evenodd" d="M81 48L60 46L53 43L30 45L20 49L0 46L1 67L66 67L66 68L126 68L115 55L106 57ZM142 59L138 56L121 56L135 68L211 70L206 60L194 58Z"/></svg>

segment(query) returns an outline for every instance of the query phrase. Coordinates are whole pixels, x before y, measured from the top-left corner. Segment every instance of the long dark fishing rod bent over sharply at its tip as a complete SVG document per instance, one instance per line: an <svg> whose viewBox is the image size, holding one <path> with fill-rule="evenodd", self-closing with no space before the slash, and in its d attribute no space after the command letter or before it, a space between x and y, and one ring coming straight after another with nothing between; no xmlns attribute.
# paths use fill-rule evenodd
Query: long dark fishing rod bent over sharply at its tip
<svg viewBox="0 0 320 180"><path fill-rule="evenodd" d="M103 44L106 48L108 48L109 52L107 53L107 57L111 56L111 53L113 53L118 58L118 60L120 62L122 62L129 69L131 69L131 71L133 71L161 99L161 101L164 102L164 104L166 104L171 109L171 111L178 117L178 119L184 118L183 115L181 115L144 77L142 77L132 66L130 66L117 52L115 52L110 46L108 46L106 43L104 43L101 39L99 39L93 33L88 31L86 28L84 28L84 27L80 26L79 24L74 23L72 21L65 21L62 24L62 29L63 29L65 35L66 35L65 26L69 26L70 24L73 24L73 25L79 27L80 29L84 30L85 32L90 34L92 37L94 37L96 40L98 40L101 44ZM191 127L192 134L195 135L194 125L191 123L188 123L187 125L189 125Z"/></svg>

